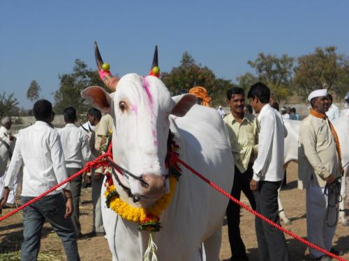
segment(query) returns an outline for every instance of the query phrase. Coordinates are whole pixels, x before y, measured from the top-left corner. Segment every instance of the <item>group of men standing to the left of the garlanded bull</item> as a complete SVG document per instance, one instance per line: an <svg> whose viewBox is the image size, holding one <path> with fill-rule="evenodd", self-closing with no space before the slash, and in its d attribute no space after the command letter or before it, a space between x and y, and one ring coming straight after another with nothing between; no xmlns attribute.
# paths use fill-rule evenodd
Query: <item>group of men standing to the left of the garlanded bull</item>
<svg viewBox="0 0 349 261"><path fill-rule="evenodd" d="M80 171L87 161L98 157L105 137L112 131L111 116L102 117L101 111L94 108L87 113L89 124L94 127L91 136L75 125L77 112L71 106L64 109L65 127L57 131L52 126L54 112L49 101L38 100L33 111L35 124L21 129L16 140L9 132L10 118L6 117L1 122L1 133L11 137L10 141L15 142L15 148L3 178L5 189L0 201L0 213L8 202L8 196L13 191L22 167L21 198L24 204ZM101 168L91 171L94 205L92 232L89 235L81 232L79 203L82 175L79 175L23 209L21 260L37 259L45 221L51 224L60 237L67 260L80 260L77 239L105 235L101 214L102 172Z"/></svg>

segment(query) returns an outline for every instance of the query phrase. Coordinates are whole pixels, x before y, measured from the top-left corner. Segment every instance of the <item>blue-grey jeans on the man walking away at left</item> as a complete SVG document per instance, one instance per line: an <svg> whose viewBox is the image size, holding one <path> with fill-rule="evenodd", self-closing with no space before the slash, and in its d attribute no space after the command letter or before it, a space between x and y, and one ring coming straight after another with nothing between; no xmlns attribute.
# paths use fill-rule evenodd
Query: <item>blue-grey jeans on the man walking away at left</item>
<svg viewBox="0 0 349 261"><path fill-rule="evenodd" d="M22 204L33 197L22 196ZM76 235L70 218L65 219L66 200L61 193L45 196L23 209L23 243L21 247L21 261L33 261L38 258L40 250L41 230L48 221L66 252L68 261L79 261Z"/></svg>

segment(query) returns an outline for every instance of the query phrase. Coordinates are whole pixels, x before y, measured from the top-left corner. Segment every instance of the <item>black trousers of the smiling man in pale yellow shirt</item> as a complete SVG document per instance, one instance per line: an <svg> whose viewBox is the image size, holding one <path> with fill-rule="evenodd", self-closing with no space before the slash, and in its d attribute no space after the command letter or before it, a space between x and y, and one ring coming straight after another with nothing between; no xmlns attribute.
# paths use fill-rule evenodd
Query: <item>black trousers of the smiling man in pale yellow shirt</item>
<svg viewBox="0 0 349 261"><path fill-rule="evenodd" d="M250 164L245 173L241 173L235 166L234 184L232 184L232 195L237 200L240 200L241 192L244 192L246 198L255 209L255 198L250 189L250 181L253 176L252 164ZM246 248L240 235L240 206L229 201L227 208L228 236L230 242L230 250L232 251L232 260L248 260Z"/></svg>

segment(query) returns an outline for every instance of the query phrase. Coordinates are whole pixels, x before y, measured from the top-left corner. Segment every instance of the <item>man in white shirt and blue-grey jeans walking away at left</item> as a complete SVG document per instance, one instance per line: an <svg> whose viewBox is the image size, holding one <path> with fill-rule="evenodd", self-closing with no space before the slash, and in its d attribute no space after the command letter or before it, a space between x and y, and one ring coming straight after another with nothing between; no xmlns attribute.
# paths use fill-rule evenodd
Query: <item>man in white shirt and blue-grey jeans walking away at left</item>
<svg viewBox="0 0 349 261"><path fill-rule="evenodd" d="M33 111L35 124L21 129L17 136L13 157L3 182L5 193L0 202L0 213L21 166L25 166L26 170L23 175L22 205L68 177L59 134L50 126L52 104L47 100L38 100ZM41 230L45 221L48 221L61 239L67 260L80 261L75 230L70 220L72 211L69 183L24 207L21 260L37 259Z"/></svg>

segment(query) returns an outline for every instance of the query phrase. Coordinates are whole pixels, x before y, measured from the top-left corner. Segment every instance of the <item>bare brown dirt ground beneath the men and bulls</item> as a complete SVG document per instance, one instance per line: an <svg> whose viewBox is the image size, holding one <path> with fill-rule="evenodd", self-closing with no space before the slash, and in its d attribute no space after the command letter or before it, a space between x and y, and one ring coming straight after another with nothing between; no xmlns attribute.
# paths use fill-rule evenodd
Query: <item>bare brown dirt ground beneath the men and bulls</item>
<svg viewBox="0 0 349 261"><path fill-rule="evenodd" d="M295 232L306 239L306 216L305 216L305 191L297 189L297 165L288 166L288 185L283 189L283 206L288 218L292 221L290 225L283 225L284 228ZM248 200L242 196L242 202ZM4 209L4 213L10 209ZM80 204L80 222L82 232L91 232L92 205L91 189L82 190L82 202ZM346 211L348 215L348 210ZM254 216L242 209L241 212L241 232L246 245L246 250L250 260L258 260L258 247L255 237ZM226 223L226 222L225 222ZM227 226L223 226L223 242L221 246L220 260L230 260L230 246L228 242ZM291 260L310 260L306 246L296 239L286 235ZM20 249L22 242L22 214L17 213L0 223L0 260L16 260L6 258L6 254L13 253ZM78 241L81 260L112 260L107 241L104 237L90 237ZM338 225L334 238L334 247L346 252L343 258L349 260L349 226ZM47 260L65 260L64 250L57 235L52 231L49 224L45 224L41 240L40 253L50 254Z"/></svg>

